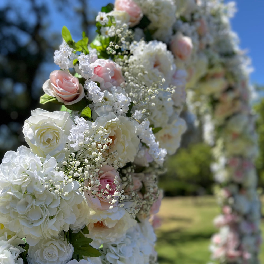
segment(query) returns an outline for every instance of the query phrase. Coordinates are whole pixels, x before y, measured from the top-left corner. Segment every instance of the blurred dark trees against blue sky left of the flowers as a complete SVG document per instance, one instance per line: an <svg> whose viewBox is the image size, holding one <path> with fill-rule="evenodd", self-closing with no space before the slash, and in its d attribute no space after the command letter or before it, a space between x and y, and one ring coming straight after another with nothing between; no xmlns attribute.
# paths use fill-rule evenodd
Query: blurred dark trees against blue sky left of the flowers
<svg viewBox="0 0 264 264"><path fill-rule="evenodd" d="M0 159L25 144L24 120L39 105L42 84L55 69L53 53L62 42L51 29L51 16L71 13L88 34L93 24L88 0L2 0L0 3ZM50 8L52 6L52 9ZM55 12L51 13L51 10ZM67 14L70 17L69 14ZM41 105L54 111L55 105Z"/></svg>

